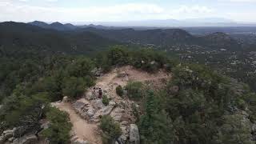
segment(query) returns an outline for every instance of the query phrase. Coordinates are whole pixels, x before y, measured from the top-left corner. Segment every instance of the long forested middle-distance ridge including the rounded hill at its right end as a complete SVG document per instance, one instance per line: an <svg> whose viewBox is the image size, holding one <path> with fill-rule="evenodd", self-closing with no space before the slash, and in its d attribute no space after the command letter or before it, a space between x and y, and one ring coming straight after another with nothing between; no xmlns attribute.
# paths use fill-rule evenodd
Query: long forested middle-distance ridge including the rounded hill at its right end
<svg viewBox="0 0 256 144"><path fill-rule="evenodd" d="M81 30L80 30L81 31ZM93 27L82 29L104 38L114 39L119 42L129 42L157 48L169 48L170 46L202 46L209 50L242 50L242 46L234 38L224 33L214 33L206 36L195 36L182 29L155 29L155 30L101 30Z"/></svg>

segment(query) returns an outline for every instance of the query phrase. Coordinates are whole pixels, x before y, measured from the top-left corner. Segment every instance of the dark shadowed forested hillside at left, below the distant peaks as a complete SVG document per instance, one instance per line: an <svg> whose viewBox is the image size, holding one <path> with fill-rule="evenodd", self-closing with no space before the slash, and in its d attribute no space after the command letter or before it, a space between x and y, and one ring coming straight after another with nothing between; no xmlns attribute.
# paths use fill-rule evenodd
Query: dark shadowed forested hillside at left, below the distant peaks
<svg viewBox="0 0 256 144"><path fill-rule="evenodd" d="M58 23L53 24L58 26ZM25 23L0 23L2 51L32 50L44 53L89 54L117 44L90 32L68 33L46 30Z"/></svg>

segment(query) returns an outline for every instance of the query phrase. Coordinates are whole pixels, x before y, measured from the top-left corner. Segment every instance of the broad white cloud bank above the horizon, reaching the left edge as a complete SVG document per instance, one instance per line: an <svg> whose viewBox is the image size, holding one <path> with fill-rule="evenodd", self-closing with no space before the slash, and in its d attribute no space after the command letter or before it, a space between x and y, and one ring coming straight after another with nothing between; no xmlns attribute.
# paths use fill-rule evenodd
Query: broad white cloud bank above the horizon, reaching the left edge
<svg viewBox="0 0 256 144"><path fill-rule="evenodd" d="M23 0L24 1L24 0ZM28 0L29 1L29 0ZM57 0L45 0L57 1ZM88 21L130 21L145 19L198 18L213 14L214 10L206 6L177 6L166 9L154 3L125 3L114 6L88 6L84 8L66 8L57 6L30 6L17 0L0 2L0 21L34 20L46 22L88 22Z"/></svg>

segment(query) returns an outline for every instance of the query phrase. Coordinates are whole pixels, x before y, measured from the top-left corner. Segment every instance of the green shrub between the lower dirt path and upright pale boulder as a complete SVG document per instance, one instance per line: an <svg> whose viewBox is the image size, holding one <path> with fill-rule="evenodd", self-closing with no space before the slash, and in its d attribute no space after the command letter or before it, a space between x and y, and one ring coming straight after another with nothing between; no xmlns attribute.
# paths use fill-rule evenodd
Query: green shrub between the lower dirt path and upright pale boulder
<svg viewBox="0 0 256 144"><path fill-rule="evenodd" d="M112 143L122 134L120 125L109 115L102 116L99 127L103 131L103 143Z"/></svg>

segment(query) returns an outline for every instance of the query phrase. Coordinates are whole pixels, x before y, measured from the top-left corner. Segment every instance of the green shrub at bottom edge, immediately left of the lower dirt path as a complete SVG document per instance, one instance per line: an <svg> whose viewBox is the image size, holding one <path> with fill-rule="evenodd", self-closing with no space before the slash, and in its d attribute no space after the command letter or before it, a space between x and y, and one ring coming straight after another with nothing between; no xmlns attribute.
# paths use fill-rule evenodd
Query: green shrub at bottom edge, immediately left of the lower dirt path
<svg viewBox="0 0 256 144"><path fill-rule="evenodd" d="M46 130L42 130L40 134L48 138L51 144L70 143L71 123L68 114L56 108L50 108L46 114L46 118L50 121L50 126Z"/></svg>

